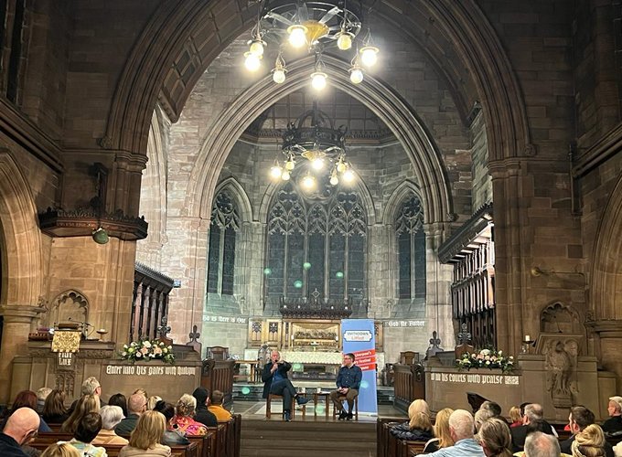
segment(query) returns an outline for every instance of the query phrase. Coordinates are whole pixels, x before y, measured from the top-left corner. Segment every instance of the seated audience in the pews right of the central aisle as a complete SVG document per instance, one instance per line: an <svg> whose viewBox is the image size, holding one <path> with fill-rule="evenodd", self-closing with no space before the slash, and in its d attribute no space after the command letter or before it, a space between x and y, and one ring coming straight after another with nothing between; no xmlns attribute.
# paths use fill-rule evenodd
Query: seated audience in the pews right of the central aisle
<svg viewBox="0 0 622 457"><path fill-rule="evenodd" d="M512 407L509 420L490 401L475 414L442 409L432 427L427 403L416 399L408 409L409 421L391 426L391 435L403 441L427 440L423 453L437 457L622 457L622 398L612 397L608 406L610 418L602 426L595 424L591 410L572 407L566 426L572 436L560 439L537 403ZM612 447L607 439L619 442Z"/></svg>

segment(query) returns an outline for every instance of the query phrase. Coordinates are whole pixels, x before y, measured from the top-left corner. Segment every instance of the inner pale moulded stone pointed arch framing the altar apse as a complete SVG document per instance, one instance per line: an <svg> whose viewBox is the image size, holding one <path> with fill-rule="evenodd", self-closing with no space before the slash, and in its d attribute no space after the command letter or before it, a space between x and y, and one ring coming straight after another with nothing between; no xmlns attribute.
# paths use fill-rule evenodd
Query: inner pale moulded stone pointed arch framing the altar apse
<svg viewBox="0 0 622 457"><path fill-rule="evenodd" d="M308 84L307 69L312 58L303 58L290 66L287 83L282 87L266 76L245 90L220 114L203 140L197 163L188 182L193 187L188 190L185 207L190 215L198 214L205 201L211 201L212 190L219 178L233 144L248 125L265 110L266 105ZM452 202L445 166L433 139L425 131L412 108L381 80L367 77L353 86L344 74L343 62L337 58L324 58L329 81L361 103L364 103L384 122L400 141L413 164L413 169L421 183L424 200L425 219L431 222L444 222L451 212ZM236 119L236 122L231 122ZM263 214L263 213L262 213Z"/></svg>

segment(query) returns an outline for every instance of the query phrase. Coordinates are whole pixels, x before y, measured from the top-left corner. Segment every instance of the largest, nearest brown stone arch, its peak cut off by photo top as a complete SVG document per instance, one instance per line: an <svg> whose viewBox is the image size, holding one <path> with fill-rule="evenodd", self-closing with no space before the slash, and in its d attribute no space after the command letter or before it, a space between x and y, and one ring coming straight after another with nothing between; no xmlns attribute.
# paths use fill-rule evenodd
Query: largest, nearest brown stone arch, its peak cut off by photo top
<svg viewBox="0 0 622 457"><path fill-rule="evenodd" d="M487 119L489 157L533 154L526 110L514 70L494 27L475 0L421 1L408 5L386 0L374 10L420 44L445 76L465 115L462 91L474 86ZM137 38L114 93L105 147L145 153L151 113L158 97L175 121L200 75L235 37L249 30L257 3L233 0L169 0L158 7ZM218 25L226 25L219 27ZM456 65L445 66L448 51ZM191 62L179 68L177 62ZM460 72L459 69L466 69Z"/></svg>

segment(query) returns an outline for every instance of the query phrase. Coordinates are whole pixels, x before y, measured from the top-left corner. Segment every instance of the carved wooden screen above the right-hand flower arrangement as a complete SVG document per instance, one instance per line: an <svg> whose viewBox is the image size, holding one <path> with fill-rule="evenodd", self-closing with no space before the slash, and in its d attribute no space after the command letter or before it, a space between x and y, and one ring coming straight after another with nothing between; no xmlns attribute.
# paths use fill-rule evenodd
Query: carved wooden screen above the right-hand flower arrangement
<svg viewBox="0 0 622 457"><path fill-rule="evenodd" d="M466 323L472 345L478 348L497 343L493 246L492 240L488 240L454 263L454 318Z"/></svg>

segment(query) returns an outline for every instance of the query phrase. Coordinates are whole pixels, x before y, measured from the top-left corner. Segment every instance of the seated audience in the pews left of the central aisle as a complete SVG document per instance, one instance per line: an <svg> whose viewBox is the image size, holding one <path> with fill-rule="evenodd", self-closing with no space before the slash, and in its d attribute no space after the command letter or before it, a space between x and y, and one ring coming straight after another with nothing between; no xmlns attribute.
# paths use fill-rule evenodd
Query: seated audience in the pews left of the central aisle
<svg viewBox="0 0 622 457"><path fill-rule="evenodd" d="M182 395L176 406L158 396L148 397L143 389L134 391L127 401L122 394L115 394L111 397L114 404L101 406L99 382L89 378L85 383L82 396L72 408L67 408L61 390L20 392L12 408L0 418L4 429L0 432L0 456L106 457L105 446L116 445L123 446L121 457L166 457L171 455L170 446L188 445L186 437L204 436L208 427L217 426L219 420L214 412L222 422L231 420L231 413L222 406L222 392L214 392L214 408L210 407L205 388L197 388L193 395ZM44 418L67 438L41 452L28 443L36 439L38 432L51 432Z"/></svg>

